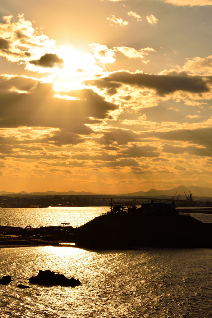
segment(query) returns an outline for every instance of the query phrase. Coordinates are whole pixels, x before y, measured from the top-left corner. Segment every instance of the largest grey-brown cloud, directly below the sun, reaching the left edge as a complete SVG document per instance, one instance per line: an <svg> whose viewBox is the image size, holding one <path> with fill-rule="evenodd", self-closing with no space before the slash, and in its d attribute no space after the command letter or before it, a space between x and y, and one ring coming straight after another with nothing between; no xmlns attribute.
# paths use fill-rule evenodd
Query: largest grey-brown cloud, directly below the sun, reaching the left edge
<svg viewBox="0 0 212 318"><path fill-rule="evenodd" d="M13 88L11 90L11 87ZM25 77L0 77L0 127L51 127L55 131L44 140L60 144L81 142L81 135L94 131L86 126L93 119L112 118L116 104L91 89L58 92L76 100L55 98L53 85ZM30 107L29 107L30 105ZM93 118L93 119L91 119Z"/></svg>

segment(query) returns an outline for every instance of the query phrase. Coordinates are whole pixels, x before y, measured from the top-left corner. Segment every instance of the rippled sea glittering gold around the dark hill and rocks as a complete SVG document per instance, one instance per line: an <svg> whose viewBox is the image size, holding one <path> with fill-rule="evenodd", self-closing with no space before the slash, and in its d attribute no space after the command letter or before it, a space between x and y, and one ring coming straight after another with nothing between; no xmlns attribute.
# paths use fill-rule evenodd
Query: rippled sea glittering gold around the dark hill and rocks
<svg viewBox="0 0 212 318"><path fill-rule="evenodd" d="M107 207L0 208L0 224L76 227ZM212 214L191 214L212 222ZM79 279L76 287L31 285L50 269ZM137 247L88 250L36 246L0 249L0 318L212 318L212 249ZM18 285L30 286L19 289Z"/></svg>

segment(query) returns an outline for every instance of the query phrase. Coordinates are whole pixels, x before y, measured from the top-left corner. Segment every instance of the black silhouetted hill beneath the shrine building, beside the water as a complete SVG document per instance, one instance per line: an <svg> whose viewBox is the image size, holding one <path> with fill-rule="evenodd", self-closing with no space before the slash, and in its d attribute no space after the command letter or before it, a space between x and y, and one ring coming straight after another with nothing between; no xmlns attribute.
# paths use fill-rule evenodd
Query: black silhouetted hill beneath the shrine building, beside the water
<svg viewBox="0 0 212 318"><path fill-rule="evenodd" d="M189 216L108 214L82 225L75 243L85 248L212 247L212 224Z"/></svg>

